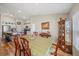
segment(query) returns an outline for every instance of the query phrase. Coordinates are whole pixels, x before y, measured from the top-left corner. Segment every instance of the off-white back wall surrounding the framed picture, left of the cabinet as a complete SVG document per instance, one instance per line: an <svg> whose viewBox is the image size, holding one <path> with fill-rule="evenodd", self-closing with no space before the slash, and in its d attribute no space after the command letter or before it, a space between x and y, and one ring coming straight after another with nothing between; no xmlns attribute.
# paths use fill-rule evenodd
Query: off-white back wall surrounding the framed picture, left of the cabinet
<svg viewBox="0 0 79 59"><path fill-rule="evenodd" d="M58 37L58 20L60 17L66 16L65 14L48 15L48 16L36 16L31 18L32 24L35 24L35 31L45 32L50 31L53 42L57 40ZM41 23L49 22L49 29L42 30Z"/></svg>

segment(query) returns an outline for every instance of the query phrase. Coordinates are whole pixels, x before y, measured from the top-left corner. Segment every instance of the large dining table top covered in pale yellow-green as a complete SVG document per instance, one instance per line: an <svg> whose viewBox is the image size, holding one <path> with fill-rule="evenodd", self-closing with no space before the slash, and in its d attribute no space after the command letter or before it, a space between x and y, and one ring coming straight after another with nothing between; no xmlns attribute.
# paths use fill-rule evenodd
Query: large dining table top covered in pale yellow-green
<svg viewBox="0 0 79 59"><path fill-rule="evenodd" d="M52 45L51 38L23 36L29 41L32 56L47 56Z"/></svg>

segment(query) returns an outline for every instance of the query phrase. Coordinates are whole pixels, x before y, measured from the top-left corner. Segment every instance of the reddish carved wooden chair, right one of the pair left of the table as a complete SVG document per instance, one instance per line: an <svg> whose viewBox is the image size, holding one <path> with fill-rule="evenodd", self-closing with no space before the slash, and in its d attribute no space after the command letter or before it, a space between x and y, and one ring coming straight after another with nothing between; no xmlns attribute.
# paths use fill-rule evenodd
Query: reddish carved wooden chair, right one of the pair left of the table
<svg viewBox="0 0 79 59"><path fill-rule="evenodd" d="M23 47L23 53L24 53L24 56L31 56L31 50L29 48L29 41L26 40L25 38L21 38L21 44L22 44L22 47Z"/></svg>

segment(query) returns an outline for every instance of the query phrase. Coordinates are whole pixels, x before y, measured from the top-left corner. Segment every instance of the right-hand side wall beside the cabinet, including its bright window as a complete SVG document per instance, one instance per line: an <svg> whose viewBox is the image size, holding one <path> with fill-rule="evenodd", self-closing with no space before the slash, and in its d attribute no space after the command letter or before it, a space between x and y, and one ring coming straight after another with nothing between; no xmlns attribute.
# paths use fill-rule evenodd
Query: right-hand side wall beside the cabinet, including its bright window
<svg viewBox="0 0 79 59"><path fill-rule="evenodd" d="M79 52L79 4L74 5L69 16L71 16L73 20L73 47ZM78 53L74 51L73 49L73 55Z"/></svg>

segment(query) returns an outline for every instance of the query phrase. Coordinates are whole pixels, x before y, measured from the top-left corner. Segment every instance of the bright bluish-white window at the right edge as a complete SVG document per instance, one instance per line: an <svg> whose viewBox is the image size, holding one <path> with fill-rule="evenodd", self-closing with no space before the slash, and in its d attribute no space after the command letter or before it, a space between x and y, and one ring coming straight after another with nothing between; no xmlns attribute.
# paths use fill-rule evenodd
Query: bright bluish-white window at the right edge
<svg viewBox="0 0 79 59"><path fill-rule="evenodd" d="M73 45L79 51L79 12L73 16Z"/></svg>

